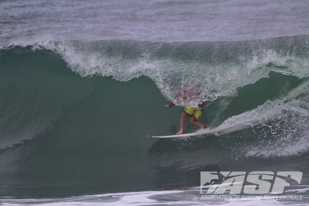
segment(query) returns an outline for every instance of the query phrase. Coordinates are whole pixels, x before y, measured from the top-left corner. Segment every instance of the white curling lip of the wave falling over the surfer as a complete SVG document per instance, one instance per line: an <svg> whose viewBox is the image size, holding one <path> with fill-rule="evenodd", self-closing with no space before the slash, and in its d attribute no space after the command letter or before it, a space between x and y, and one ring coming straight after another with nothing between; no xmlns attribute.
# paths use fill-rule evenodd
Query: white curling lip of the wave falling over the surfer
<svg viewBox="0 0 309 206"><path fill-rule="evenodd" d="M236 95L274 71L299 78L309 75L309 36L225 42L141 42L129 40L47 41L18 44L59 54L82 77L112 76L128 81L154 80L161 93L178 105L199 99ZM198 93L194 100L179 98Z"/></svg>

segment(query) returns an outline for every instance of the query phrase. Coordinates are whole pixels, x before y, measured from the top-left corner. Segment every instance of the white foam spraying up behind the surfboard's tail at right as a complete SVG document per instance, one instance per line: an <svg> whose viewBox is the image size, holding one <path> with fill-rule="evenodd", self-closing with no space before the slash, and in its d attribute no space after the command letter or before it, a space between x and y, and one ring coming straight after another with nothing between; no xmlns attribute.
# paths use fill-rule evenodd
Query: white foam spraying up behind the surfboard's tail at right
<svg viewBox="0 0 309 206"><path fill-rule="evenodd" d="M217 129L225 130L225 134L246 128L258 130L257 141L236 148L236 156L290 156L307 152L308 86L309 81L304 82L281 100L267 101L256 109L232 116Z"/></svg>

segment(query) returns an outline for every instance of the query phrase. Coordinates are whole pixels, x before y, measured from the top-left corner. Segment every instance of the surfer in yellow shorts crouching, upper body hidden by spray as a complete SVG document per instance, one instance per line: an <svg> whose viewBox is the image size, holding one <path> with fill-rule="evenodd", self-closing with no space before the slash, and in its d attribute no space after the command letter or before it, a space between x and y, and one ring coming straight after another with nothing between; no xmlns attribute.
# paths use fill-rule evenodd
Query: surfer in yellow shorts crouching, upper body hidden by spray
<svg viewBox="0 0 309 206"><path fill-rule="evenodd" d="M198 107L193 107L193 106L187 106L184 108L181 117L180 117L180 130L177 132L177 134L182 134L183 132L183 128L184 128L184 124L185 124L185 118L186 117L190 117L189 119L189 123L191 125L195 125L199 128L203 128L203 129L210 129L209 126L203 125L201 122L198 121L198 119L200 118L203 109L206 107L206 103L210 102L209 100L203 101L201 103L199 103ZM165 104L165 107L172 107L175 104L173 102Z"/></svg>

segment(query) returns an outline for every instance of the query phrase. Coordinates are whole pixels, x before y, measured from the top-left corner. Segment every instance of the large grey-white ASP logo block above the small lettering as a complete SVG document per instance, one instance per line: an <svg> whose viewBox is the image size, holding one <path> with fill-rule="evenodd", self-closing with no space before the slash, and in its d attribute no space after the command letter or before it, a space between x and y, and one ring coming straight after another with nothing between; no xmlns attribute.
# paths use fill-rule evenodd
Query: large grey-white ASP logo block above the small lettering
<svg viewBox="0 0 309 206"><path fill-rule="evenodd" d="M201 172L201 194L283 194L284 188L300 184L298 171Z"/></svg>

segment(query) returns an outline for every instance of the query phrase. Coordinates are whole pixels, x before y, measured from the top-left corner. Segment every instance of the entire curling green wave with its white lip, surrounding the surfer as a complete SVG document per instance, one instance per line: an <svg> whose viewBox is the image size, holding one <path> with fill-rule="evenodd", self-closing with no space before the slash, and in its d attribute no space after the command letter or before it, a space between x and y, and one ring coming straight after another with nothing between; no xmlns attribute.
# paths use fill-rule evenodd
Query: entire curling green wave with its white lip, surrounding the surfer
<svg viewBox="0 0 309 206"><path fill-rule="evenodd" d="M240 163L231 159L239 158L251 170L258 169L252 160L264 164L279 158L280 164L298 156L305 163L308 55L308 36L53 41L2 48L0 175L3 185L12 186L5 194L68 196L173 188L175 182L196 186L197 171L215 171L219 164L235 168ZM182 98L188 92L199 96ZM212 102L201 121L234 130L220 138L145 137L176 133L182 106L205 98ZM178 106L165 108L167 101ZM166 181L160 182L162 177ZM29 181L39 186L31 188ZM64 189L54 189L60 184Z"/></svg>

